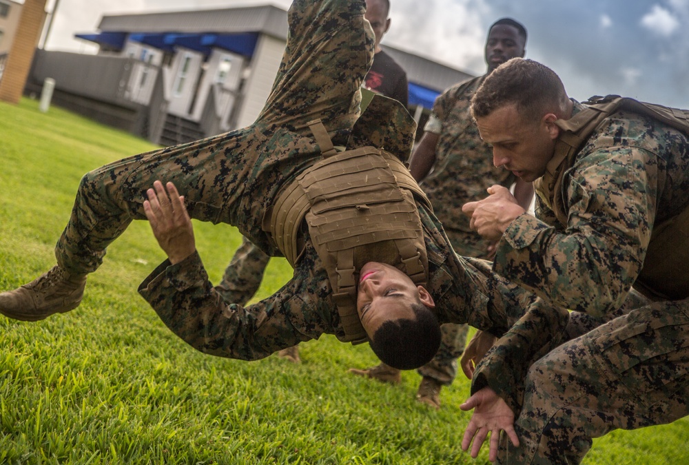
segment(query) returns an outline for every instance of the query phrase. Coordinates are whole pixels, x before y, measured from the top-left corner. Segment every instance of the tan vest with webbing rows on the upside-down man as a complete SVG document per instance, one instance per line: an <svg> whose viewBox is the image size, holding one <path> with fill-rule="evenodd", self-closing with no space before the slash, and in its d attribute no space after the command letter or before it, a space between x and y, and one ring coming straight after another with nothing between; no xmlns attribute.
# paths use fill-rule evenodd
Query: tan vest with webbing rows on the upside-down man
<svg viewBox="0 0 689 465"><path fill-rule="evenodd" d="M396 265L426 285L428 258L413 193L431 203L393 154L375 147L338 152L320 119L308 123L323 159L278 194L267 231L294 267L306 219L313 247L327 270L345 342L367 340L356 311L359 269L371 261Z"/></svg>

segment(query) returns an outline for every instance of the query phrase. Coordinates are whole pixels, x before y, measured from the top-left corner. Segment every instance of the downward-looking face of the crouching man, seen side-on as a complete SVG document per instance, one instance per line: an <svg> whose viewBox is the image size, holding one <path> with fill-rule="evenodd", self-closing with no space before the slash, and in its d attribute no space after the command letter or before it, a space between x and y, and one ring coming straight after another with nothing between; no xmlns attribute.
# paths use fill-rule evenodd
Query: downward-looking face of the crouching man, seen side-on
<svg viewBox="0 0 689 465"><path fill-rule="evenodd" d="M476 125L483 141L493 146L493 164L504 166L527 183L543 176L553 158L555 138L559 132L551 121L555 115L544 115L528 121L517 113L516 105L506 105L488 116L477 118Z"/></svg>

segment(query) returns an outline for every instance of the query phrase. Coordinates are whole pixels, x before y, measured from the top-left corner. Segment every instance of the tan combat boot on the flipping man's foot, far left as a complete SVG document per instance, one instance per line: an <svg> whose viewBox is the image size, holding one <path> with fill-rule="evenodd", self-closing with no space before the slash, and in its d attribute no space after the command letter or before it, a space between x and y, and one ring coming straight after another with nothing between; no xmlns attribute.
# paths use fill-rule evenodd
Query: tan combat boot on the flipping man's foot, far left
<svg viewBox="0 0 689 465"><path fill-rule="evenodd" d="M55 265L19 289L0 293L0 313L15 320L43 320L78 307L85 286L85 274L70 274Z"/></svg>

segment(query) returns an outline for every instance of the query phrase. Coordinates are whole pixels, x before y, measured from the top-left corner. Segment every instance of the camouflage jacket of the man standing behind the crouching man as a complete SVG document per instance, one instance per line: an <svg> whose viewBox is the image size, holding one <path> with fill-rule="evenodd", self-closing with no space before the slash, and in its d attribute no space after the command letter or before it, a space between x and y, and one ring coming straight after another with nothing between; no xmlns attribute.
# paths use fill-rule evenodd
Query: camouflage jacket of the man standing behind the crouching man
<svg viewBox="0 0 689 465"><path fill-rule="evenodd" d="M471 117L471 97L485 77L455 84L435 99L424 130L438 134L438 145L433 171L422 182L455 251L484 258L491 241L471 230L462 205L484 198L491 185L509 187L516 180L508 170L493 166L493 151L481 140Z"/></svg>

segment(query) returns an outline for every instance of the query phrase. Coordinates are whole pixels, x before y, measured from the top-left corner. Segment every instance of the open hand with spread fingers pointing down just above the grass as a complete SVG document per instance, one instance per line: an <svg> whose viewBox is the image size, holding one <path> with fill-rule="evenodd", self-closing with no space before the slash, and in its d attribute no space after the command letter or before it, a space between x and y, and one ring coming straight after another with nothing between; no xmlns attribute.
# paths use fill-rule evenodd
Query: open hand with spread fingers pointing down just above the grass
<svg viewBox="0 0 689 465"><path fill-rule="evenodd" d="M469 411L475 409L471 420L466 426L464 437L462 438L462 451L469 450L471 447L471 457L476 458L488 433L491 433L489 460L495 462L497 458L497 448L500 445L500 432L504 431L512 444L519 446L519 438L515 432L515 415L506 402L498 396L493 389L484 387L467 399L460 409Z"/></svg>

